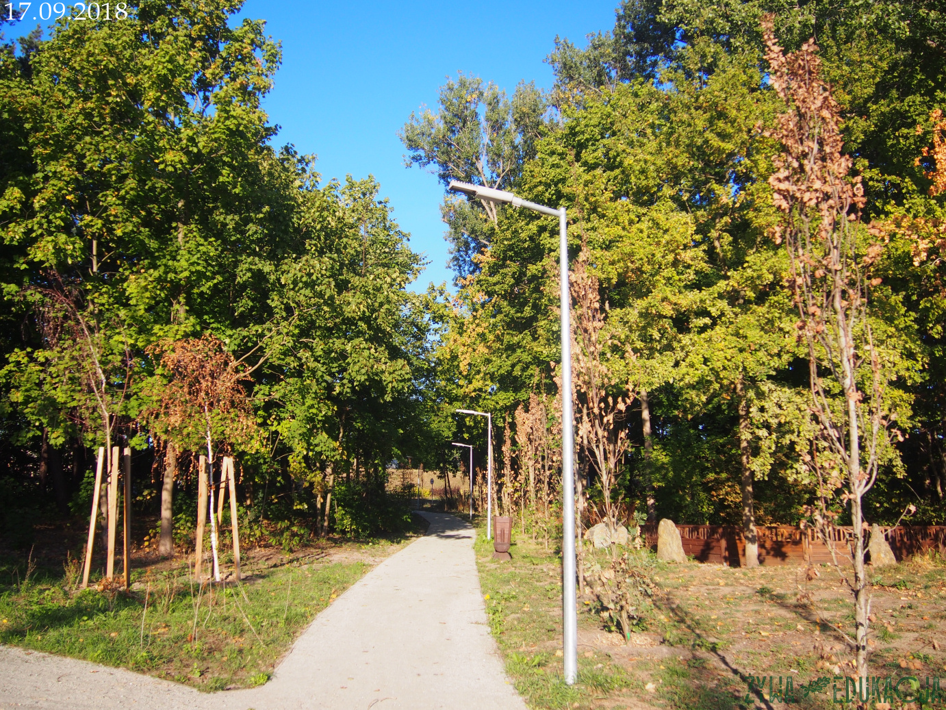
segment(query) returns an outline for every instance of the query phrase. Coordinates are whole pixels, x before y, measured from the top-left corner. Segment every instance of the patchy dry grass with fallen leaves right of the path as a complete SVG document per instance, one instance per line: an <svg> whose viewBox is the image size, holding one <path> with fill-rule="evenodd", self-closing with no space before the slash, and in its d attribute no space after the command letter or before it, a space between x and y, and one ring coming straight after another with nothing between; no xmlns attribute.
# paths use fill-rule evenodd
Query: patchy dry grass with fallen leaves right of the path
<svg viewBox="0 0 946 710"><path fill-rule="evenodd" d="M799 690L851 670L852 654L837 630L840 624L853 631L850 593L827 567L807 581L796 566L668 564L643 553L639 566L661 595L640 620L638 638L653 643L625 645L604 628L594 600L579 597L579 678L569 686L555 653L562 644L558 555L514 531L513 559L495 561L492 544L479 532L476 555L490 628L510 679L532 708L853 707L832 701L831 684L818 689L815 683L807 697ZM603 560L605 554L598 552ZM879 571L874 583L871 673L929 676L931 682L938 675L946 688L946 565L918 559ZM895 631L886 629L889 622ZM795 701L769 697L778 694L780 677L793 679ZM946 701L933 706L946 707Z"/></svg>

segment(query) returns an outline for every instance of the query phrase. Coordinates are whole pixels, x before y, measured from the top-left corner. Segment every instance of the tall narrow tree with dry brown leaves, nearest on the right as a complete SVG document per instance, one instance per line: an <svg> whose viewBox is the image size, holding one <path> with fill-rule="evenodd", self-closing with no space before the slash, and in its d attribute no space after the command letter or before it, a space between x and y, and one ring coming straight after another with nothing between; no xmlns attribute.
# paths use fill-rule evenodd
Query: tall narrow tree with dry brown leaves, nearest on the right
<svg viewBox="0 0 946 710"><path fill-rule="evenodd" d="M896 434L867 311L868 286L876 284L868 283L866 271L882 246L875 242L863 249L868 235L859 222L864 190L860 178L850 175L840 110L821 79L817 45L810 40L786 56L776 42L771 16L762 28L771 85L785 108L771 132L784 148L769 178L782 213L773 237L784 242L790 259L788 287L797 306L798 337L808 346L812 413L818 425L813 453L805 460L817 482L817 503L807 512L853 595L855 631L848 640L857 675L866 682L870 590L862 500L877 479L888 436ZM836 497L850 510L848 549L836 544L832 534L837 515L829 502Z"/></svg>

